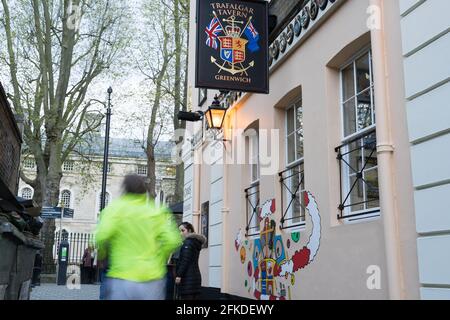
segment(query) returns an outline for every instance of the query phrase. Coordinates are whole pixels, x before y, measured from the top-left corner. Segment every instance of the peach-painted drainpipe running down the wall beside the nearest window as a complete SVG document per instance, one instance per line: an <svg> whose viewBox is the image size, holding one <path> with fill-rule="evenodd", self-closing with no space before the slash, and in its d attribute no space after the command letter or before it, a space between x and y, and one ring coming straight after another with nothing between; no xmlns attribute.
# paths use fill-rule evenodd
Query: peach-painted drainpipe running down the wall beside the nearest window
<svg viewBox="0 0 450 320"><path fill-rule="evenodd" d="M389 0L390 1L390 0ZM377 156L381 217L384 225L384 240L387 262L389 298L405 299L400 240L398 231L398 212L395 205L394 189L394 145L391 136L390 103L388 97L389 72L387 69L384 0L370 0L379 13L380 28L372 28L373 75L375 85L375 113L377 115Z"/></svg>

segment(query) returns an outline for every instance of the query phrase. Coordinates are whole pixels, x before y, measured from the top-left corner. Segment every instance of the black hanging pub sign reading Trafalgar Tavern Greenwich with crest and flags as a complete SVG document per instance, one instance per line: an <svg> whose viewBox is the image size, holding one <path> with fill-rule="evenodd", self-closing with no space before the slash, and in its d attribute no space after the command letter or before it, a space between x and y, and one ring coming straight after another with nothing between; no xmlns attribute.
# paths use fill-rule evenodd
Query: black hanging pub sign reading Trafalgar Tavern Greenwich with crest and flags
<svg viewBox="0 0 450 320"><path fill-rule="evenodd" d="M269 93L266 1L197 0L197 88Z"/></svg>

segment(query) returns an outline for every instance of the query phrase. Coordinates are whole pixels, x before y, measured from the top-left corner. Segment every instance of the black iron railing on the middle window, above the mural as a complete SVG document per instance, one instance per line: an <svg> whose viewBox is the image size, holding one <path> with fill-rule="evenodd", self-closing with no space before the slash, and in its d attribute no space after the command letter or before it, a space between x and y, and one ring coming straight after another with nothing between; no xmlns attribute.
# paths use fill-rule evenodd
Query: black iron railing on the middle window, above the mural
<svg viewBox="0 0 450 320"><path fill-rule="evenodd" d="M278 173L278 175L281 185L281 229L304 226L305 207L301 198L305 179L303 162ZM286 206L284 200L286 200ZM288 213L291 214L288 216Z"/></svg>

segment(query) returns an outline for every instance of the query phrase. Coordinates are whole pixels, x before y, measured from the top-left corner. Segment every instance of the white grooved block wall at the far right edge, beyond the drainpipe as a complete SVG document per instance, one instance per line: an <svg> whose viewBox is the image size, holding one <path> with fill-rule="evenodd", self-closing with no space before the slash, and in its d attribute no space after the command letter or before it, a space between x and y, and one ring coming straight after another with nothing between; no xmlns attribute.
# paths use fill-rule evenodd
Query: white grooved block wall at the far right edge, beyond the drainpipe
<svg viewBox="0 0 450 320"><path fill-rule="evenodd" d="M400 4L420 294L450 300L450 2Z"/></svg>

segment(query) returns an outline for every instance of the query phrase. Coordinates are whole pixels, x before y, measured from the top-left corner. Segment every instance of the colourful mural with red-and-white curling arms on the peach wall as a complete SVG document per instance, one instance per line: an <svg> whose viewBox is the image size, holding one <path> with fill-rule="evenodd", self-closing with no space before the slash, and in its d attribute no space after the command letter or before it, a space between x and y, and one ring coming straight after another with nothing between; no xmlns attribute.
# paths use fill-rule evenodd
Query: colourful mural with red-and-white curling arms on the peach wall
<svg viewBox="0 0 450 320"><path fill-rule="evenodd" d="M245 264L248 259L249 293L256 299L291 299L291 292L296 285L296 273L308 266L319 250L321 226L318 206L310 192L304 192L303 196L312 223L308 242L303 246L299 232L277 234L274 199L265 202L258 210L261 221L258 238L249 239L246 243L242 230L236 236L235 246L236 251L240 252L241 262Z"/></svg>

